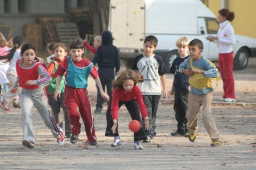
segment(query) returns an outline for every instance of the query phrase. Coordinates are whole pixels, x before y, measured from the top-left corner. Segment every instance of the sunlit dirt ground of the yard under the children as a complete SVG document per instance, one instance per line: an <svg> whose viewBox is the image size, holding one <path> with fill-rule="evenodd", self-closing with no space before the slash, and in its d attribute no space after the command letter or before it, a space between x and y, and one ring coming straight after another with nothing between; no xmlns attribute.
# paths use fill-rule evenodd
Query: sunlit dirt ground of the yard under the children
<svg viewBox="0 0 256 170"><path fill-rule="evenodd" d="M124 68L122 68L124 69ZM144 150L134 150L133 134L128 129L129 113L119 111L119 132L122 145L110 147L113 138L105 137L105 111L93 114L97 146L86 146L84 126L79 141L72 145L66 139L58 146L56 139L34 109L35 148L22 146L20 109L0 111L1 169L255 169L256 168L256 58L250 58L245 70L234 71L237 103L217 99L222 95L222 81L214 92L212 111L217 128L224 138L221 147L210 147L210 138L199 116L195 143L184 137L171 137L176 130L173 97L161 100L156 120L157 134L151 143L142 143ZM168 89L173 76L168 74ZM95 108L95 82L89 78L92 111Z"/></svg>

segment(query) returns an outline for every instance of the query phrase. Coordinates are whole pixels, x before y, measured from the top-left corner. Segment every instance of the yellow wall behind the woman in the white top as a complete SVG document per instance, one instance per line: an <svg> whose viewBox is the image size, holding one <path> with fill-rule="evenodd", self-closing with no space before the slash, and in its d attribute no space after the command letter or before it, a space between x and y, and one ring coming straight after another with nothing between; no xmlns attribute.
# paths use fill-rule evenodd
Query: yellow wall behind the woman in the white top
<svg viewBox="0 0 256 170"><path fill-rule="evenodd" d="M208 7L218 16L218 10L223 0L208 0ZM256 1L255 0L226 0L225 6L235 13L231 23L236 34L249 36L256 39Z"/></svg>

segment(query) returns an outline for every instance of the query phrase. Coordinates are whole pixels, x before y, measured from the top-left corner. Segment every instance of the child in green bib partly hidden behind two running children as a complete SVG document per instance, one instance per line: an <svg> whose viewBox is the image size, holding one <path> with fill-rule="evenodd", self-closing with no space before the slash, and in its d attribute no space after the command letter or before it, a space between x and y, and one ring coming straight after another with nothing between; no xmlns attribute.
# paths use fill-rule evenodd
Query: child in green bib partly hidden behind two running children
<svg viewBox="0 0 256 170"><path fill-rule="evenodd" d="M57 74L55 72L59 67L60 62L63 61L63 59L67 56L67 47L63 43L56 43L54 46L54 52L55 52L55 57L52 58L47 69L47 71L52 77L51 83L49 83L49 86L47 86L46 88L48 103L52 109L52 116L54 117L56 124L60 126L60 128L63 127L63 118L62 118L62 115L60 114L60 108L63 109L64 120L65 120L65 136L67 138L71 138L72 126L68 120L67 108L64 105L64 88L65 88L64 76L60 80L60 86L59 86L60 97L57 98L57 101L53 99L55 86L56 86L56 78L57 78Z"/></svg>

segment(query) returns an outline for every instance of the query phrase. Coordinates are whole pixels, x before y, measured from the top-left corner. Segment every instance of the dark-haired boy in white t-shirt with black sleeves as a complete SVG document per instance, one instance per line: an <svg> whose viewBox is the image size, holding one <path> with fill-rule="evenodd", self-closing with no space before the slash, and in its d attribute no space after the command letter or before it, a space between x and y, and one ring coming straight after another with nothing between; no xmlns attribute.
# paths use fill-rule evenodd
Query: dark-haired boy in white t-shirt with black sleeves
<svg viewBox="0 0 256 170"><path fill-rule="evenodd" d="M163 97L167 98L166 88L166 73L167 69L164 65L162 57L154 54L154 50L158 44L158 39L155 36L147 36L143 42L143 54L135 57L131 69L139 70L144 77L144 83L138 84L142 91L144 104L147 108L149 126L148 130L144 128L148 139L143 142L150 142L156 135L156 112L158 111L158 104L161 97L161 83L163 86Z"/></svg>

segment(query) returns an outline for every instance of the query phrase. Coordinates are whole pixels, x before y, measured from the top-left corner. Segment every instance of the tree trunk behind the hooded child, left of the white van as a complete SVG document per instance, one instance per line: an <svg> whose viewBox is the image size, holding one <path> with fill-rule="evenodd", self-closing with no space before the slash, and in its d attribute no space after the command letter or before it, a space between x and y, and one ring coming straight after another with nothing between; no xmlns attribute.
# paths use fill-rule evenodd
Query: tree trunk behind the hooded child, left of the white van
<svg viewBox="0 0 256 170"><path fill-rule="evenodd" d="M93 21L93 34L100 35L108 29L110 0L84 0Z"/></svg>

